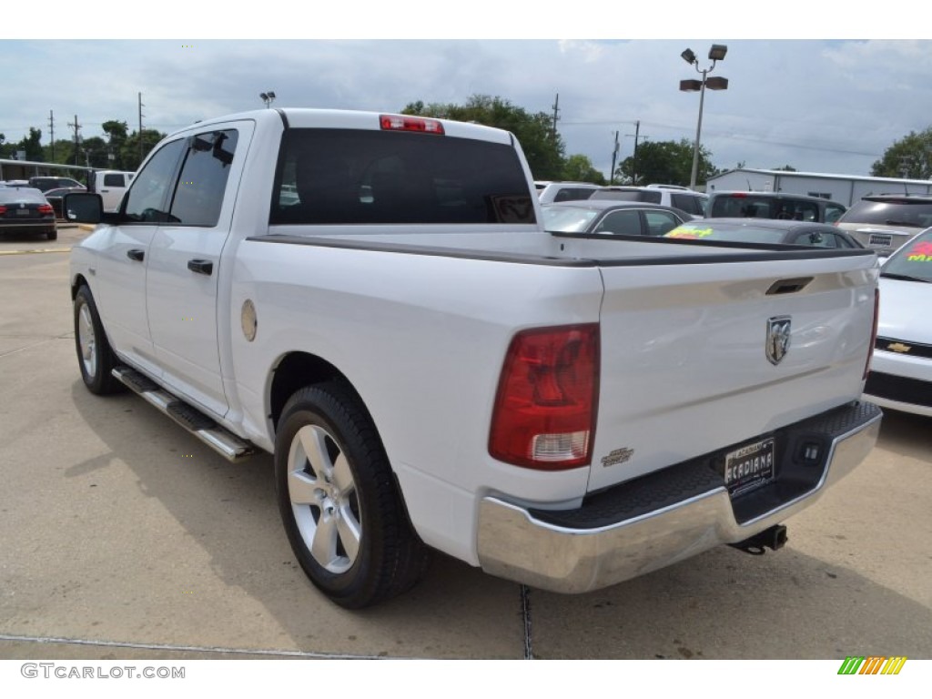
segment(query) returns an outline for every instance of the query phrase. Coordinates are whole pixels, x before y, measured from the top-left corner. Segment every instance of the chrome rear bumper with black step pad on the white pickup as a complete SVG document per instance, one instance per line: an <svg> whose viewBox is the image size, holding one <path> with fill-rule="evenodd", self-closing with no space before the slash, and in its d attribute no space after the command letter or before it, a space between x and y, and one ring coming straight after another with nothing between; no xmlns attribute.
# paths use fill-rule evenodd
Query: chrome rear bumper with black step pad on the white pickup
<svg viewBox="0 0 932 699"><path fill-rule="evenodd" d="M491 575L541 589L583 593L745 541L808 507L850 473L876 443L882 416L876 405L850 404L778 431L788 446L774 483L734 501L713 469L720 455L623 484L569 513L485 498L480 565ZM794 456L797 445L816 442L823 445L817 463Z"/></svg>

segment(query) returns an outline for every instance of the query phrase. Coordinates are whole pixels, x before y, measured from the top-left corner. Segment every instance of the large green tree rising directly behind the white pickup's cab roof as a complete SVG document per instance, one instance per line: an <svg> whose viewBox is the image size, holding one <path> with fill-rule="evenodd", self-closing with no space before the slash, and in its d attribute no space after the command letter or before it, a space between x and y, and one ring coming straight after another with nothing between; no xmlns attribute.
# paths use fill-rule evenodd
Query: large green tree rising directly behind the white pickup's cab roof
<svg viewBox="0 0 932 699"><path fill-rule="evenodd" d="M559 180L565 165L563 139L554 132L553 119L545 112L530 114L508 100L473 95L465 104L409 103L402 114L473 121L514 133L528 158L536 180Z"/></svg>

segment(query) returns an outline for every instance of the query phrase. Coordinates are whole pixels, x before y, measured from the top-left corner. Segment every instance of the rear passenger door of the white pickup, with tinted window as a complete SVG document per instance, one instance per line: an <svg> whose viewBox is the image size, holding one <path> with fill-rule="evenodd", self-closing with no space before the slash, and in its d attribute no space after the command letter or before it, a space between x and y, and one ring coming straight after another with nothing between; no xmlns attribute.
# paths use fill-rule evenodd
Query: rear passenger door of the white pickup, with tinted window
<svg viewBox="0 0 932 699"><path fill-rule="evenodd" d="M251 123L204 130L186 140L168 223L152 242L146 303L163 380L215 416L226 414L217 345L220 256L226 244Z"/></svg>

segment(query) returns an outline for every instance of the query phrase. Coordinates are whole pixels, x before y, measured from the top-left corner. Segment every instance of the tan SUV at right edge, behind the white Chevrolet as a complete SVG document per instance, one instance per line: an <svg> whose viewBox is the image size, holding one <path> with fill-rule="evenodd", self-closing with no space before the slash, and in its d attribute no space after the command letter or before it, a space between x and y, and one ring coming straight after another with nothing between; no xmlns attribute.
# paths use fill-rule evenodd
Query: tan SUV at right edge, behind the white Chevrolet
<svg viewBox="0 0 932 699"><path fill-rule="evenodd" d="M878 194L851 205L839 228L878 254L888 255L932 226L932 197Z"/></svg>

